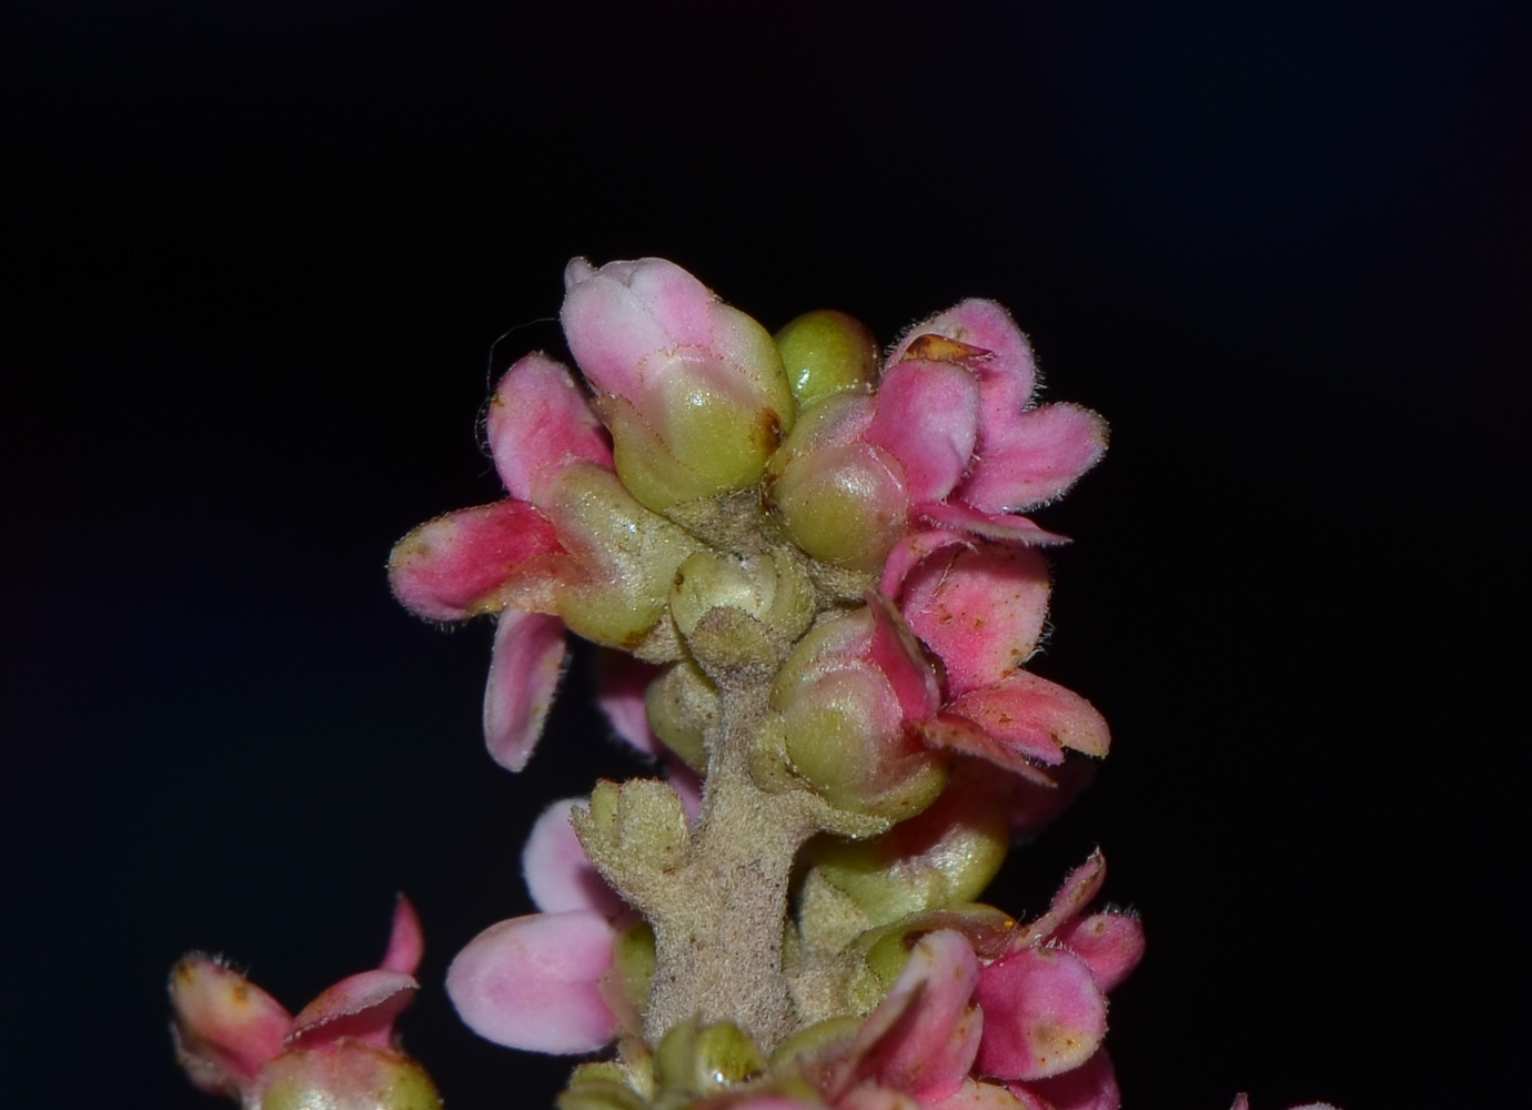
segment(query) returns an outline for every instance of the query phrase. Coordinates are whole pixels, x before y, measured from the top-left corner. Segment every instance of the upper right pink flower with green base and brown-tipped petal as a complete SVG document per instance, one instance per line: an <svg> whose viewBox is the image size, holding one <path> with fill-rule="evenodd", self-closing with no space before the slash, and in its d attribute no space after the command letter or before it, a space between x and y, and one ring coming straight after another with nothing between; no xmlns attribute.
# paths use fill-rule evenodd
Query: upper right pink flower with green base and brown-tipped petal
<svg viewBox="0 0 1532 1110"><path fill-rule="evenodd" d="M829 562L876 570L931 525L1011 544L1054 536L1017 513L1100 459L1106 423L1034 401L1031 348L994 302L965 300L908 331L872 397L815 407L772 462L789 531Z"/></svg>

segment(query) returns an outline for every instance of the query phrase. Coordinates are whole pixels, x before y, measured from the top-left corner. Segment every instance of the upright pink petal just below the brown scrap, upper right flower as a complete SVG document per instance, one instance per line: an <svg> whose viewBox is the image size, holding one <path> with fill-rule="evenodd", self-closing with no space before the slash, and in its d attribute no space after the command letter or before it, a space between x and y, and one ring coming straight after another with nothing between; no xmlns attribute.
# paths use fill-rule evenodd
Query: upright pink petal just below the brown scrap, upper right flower
<svg viewBox="0 0 1532 1110"><path fill-rule="evenodd" d="M979 383L962 366L905 361L878 383L867 441L904 467L910 501L941 501L962 478L979 435Z"/></svg>

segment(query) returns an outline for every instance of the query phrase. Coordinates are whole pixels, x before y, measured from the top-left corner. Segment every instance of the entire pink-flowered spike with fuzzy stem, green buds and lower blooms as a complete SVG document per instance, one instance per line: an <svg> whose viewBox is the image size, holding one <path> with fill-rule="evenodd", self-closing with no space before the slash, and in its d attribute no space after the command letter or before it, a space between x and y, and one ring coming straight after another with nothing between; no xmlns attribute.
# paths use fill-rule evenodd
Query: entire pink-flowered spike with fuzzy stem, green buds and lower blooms
<svg viewBox="0 0 1532 1110"><path fill-rule="evenodd" d="M579 372L530 354L490 403L509 496L421 525L389 576L429 620L493 615L496 762L530 759L568 631L663 778L542 815L539 912L458 954L460 1015L604 1053L561 1110L1115 1110L1108 992L1144 939L1091 912L1102 854L1036 920L976 900L1108 753L1102 715L1025 669L1062 542L1026 513L1100 459L1102 418L1037 403L987 300L879 355L843 312L774 335L669 262L576 259L561 318ZM434 1105L352 1081L415 1067L389 1037L417 958L401 903L383 969L290 1018L188 957L184 1061L264 1110Z"/></svg>

